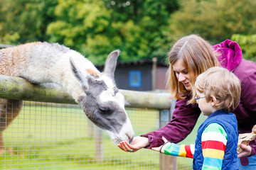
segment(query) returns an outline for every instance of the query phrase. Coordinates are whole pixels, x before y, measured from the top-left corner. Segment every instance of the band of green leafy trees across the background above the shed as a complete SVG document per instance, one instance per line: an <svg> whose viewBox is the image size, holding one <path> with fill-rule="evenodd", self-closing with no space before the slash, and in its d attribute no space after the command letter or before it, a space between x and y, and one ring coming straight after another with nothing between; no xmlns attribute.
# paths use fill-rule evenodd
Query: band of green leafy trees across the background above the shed
<svg viewBox="0 0 256 170"><path fill-rule="evenodd" d="M116 49L119 61L160 61L191 33L214 43L255 34L255 8L255 0L0 0L0 43L59 42L95 64ZM245 57L253 47L242 46Z"/></svg>

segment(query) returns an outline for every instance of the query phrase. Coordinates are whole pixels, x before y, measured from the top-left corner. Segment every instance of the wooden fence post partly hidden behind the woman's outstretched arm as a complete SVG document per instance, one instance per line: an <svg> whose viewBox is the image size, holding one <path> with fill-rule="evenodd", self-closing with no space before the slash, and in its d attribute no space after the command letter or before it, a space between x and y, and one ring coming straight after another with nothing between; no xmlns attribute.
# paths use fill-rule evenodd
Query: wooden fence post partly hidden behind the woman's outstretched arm
<svg viewBox="0 0 256 170"><path fill-rule="evenodd" d="M164 125L166 125L167 123L169 123L169 121L171 120L172 117L172 113L174 111L174 106L175 106L176 100L172 100L171 101L171 108L170 110L162 110L160 111L160 128L164 127ZM177 170L177 158L170 156L170 155L166 155L166 154L160 154L160 170L165 170L165 169L169 169L169 170Z"/></svg>

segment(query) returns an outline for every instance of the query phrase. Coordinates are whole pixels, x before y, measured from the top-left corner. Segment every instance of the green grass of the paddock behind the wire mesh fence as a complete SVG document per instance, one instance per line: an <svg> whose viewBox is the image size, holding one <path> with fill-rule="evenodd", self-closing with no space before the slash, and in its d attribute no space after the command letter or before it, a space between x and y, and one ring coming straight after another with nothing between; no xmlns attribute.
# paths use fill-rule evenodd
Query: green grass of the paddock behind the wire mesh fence
<svg viewBox="0 0 256 170"><path fill-rule="evenodd" d="M4 131L6 151L12 149L15 154L0 155L0 169L159 169L159 152L150 149L123 152L105 132L102 159L97 159L97 128L93 125L88 130L90 123L82 109L47 105L24 106L14 123ZM127 113L135 135L159 126L158 111L127 109ZM183 142L194 143L196 130L197 127ZM178 158L178 167L187 166L189 161Z"/></svg>

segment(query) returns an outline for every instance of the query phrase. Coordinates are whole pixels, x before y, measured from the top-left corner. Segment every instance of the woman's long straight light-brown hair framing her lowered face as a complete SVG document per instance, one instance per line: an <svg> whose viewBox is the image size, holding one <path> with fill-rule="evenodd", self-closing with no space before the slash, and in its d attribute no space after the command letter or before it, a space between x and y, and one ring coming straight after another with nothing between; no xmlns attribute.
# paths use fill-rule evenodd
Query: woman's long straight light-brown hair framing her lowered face
<svg viewBox="0 0 256 170"><path fill-rule="evenodd" d="M167 72L167 84L171 91L170 98L184 99L185 95L193 94L193 90L187 91L181 82L178 82L173 69L173 64L181 60L188 69L191 89L194 89L196 77L210 67L219 66L217 57L210 43L199 35L188 35L178 40L169 51L169 71ZM188 103L195 103L191 98Z"/></svg>

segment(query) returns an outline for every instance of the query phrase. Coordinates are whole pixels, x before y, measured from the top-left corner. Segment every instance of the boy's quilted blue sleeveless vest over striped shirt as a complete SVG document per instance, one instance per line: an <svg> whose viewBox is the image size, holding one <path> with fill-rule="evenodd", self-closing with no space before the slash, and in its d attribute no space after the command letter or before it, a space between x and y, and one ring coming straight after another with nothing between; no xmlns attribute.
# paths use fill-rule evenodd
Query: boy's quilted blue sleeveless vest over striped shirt
<svg viewBox="0 0 256 170"><path fill-rule="evenodd" d="M212 113L198 128L195 152L193 154L193 169L202 169L203 150L201 137L203 130L205 130L210 123L218 123L222 125L228 135L222 169L238 169L238 121L233 113L226 113L224 110Z"/></svg>

